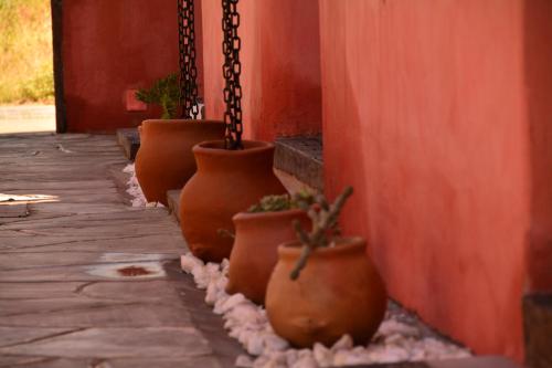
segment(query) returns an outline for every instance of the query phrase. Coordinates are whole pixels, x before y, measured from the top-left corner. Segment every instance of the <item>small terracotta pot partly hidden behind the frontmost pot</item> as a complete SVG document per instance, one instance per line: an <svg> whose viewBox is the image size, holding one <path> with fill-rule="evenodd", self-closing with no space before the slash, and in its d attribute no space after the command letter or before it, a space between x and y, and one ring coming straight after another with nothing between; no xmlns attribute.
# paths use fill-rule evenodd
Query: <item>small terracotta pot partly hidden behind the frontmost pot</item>
<svg viewBox="0 0 552 368"><path fill-rule="evenodd" d="M229 294L242 293L257 304L265 303L266 285L278 261L278 245L296 240L293 221L305 229L310 219L302 210L240 212L232 219L236 238L230 255Z"/></svg>

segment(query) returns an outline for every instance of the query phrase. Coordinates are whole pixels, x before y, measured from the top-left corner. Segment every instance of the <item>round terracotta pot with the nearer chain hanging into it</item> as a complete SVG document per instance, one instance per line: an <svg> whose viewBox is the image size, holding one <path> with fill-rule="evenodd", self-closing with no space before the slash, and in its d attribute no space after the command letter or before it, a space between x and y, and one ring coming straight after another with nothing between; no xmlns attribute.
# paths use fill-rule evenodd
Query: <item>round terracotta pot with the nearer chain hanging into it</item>
<svg viewBox="0 0 552 368"><path fill-rule="evenodd" d="M198 171L180 194L180 227L191 252L206 262L230 256L233 240L219 230L233 232L235 213L264 196L286 192L273 171L274 145L243 144L240 150L224 149L224 140L193 147Z"/></svg>

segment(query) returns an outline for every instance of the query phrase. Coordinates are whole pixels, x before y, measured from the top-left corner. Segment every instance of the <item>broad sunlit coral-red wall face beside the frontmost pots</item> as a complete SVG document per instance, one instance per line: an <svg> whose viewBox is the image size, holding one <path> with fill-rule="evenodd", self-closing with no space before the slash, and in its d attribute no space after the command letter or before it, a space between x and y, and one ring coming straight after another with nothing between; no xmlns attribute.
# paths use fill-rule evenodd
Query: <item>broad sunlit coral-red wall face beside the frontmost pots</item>
<svg viewBox="0 0 552 368"><path fill-rule="evenodd" d="M320 0L326 188L355 188L344 230L367 236L392 297L518 360L531 154L552 208L550 74L539 63L534 148L524 21L523 0Z"/></svg>

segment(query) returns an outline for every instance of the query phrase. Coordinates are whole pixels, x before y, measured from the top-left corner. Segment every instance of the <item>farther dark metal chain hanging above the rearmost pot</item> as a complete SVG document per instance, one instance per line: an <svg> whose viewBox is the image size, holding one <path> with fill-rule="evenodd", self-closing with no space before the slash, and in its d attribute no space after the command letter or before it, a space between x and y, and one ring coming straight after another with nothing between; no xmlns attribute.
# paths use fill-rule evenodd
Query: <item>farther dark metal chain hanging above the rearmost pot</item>
<svg viewBox="0 0 552 368"><path fill-rule="evenodd" d="M195 66L194 0L178 0L180 52L180 105L183 118L198 118L198 69Z"/></svg>

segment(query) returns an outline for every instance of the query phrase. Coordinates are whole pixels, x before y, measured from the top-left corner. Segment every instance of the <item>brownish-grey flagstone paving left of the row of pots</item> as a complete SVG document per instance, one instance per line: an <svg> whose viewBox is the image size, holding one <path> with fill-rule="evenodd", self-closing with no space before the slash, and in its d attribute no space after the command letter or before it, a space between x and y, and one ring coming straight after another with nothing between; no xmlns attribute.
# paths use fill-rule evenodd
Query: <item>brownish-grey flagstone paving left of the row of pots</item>
<svg viewBox="0 0 552 368"><path fill-rule="evenodd" d="M126 164L113 136L0 136L0 367L227 367L242 353L179 271L173 218L129 206Z"/></svg>

